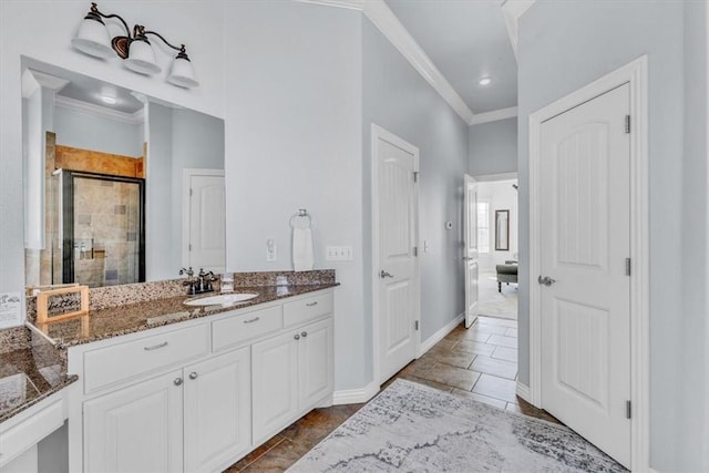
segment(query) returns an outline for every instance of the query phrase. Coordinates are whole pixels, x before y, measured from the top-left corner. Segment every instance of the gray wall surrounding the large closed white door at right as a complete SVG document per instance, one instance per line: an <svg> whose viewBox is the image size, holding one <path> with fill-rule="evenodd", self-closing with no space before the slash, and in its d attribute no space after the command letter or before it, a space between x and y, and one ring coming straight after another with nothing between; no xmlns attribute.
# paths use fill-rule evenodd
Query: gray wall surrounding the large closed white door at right
<svg viewBox="0 0 709 473"><path fill-rule="evenodd" d="M684 442L697 433L678 421L686 387L680 368L686 361L681 354L686 341L681 330L682 204L706 200L706 188L682 189L684 3L536 2L521 19L518 43L522 267L530 260L530 113L643 54L649 58L650 464L660 471L679 470L689 461L680 460ZM520 380L524 383L530 379L528 287L528 275L522 271Z"/></svg>

